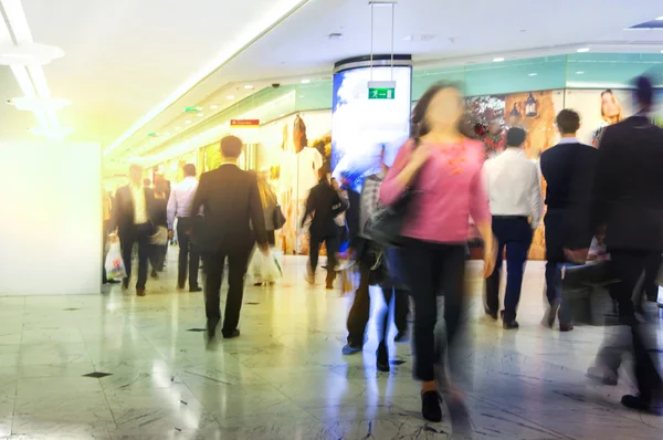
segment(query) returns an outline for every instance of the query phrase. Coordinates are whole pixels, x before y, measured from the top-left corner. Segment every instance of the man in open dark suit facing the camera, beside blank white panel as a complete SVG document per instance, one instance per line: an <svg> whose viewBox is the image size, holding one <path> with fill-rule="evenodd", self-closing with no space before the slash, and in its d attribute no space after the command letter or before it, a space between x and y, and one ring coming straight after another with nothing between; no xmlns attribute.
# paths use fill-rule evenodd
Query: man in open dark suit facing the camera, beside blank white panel
<svg viewBox="0 0 663 440"><path fill-rule="evenodd" d="M147 283L147 265L151 251L149 238L154 232L155 193L143 185L143 167L131 165L129 168L129 185L117 190L113 207L113 229L117 228L122 258L127 277L123 287L129 287L131 277L131 253L134 244L138 243L138 281L136 294L145 296Z"/></svg>

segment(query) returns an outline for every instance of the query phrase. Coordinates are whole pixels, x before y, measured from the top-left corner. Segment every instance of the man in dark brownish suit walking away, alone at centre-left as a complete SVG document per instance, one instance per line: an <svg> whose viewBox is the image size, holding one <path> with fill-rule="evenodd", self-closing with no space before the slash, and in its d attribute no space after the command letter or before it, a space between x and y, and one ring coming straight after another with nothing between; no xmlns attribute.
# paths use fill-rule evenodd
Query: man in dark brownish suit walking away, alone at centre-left
<svg viewBox="0 0 663 440"><path fill-rule="evenodd" d="M191 212L203 210L203 219L193 228L193 239L201 252L206 272L204 302L208 335L213 338L221 321L220 291L223 266L228 259L228 297L222 334L224 338L240 336L238 323L244 275L255 241L264 254L270 245L265 218L257 188L257 177L236 166L242 154L242 140L235 136L221 139L223 163L200 177Z"/></svg>

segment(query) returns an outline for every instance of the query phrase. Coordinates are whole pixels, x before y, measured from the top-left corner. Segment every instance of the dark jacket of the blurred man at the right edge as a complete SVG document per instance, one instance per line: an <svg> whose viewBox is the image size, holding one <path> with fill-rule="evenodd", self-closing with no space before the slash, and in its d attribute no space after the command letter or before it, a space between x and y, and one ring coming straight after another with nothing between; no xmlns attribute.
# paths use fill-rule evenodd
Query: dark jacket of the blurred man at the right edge
<svg viewBox="0 0 663 440"><path fill-rule="evenodd" d="M646 117L603 132L591 219L609 249L663 251L663 129Z"/></svg>

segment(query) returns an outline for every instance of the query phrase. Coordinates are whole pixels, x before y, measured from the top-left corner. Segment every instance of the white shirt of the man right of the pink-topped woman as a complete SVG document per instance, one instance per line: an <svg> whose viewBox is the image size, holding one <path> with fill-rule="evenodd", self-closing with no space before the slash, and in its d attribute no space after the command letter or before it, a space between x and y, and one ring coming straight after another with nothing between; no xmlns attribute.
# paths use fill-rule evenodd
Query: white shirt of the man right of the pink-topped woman
<svg viewBox="0 0 663 440"><path fill-rule="evenodd" d="M541 181L538 167L519 148L506 148L484 165L491 213L529 217L532 229L543 216Z"/></svg>

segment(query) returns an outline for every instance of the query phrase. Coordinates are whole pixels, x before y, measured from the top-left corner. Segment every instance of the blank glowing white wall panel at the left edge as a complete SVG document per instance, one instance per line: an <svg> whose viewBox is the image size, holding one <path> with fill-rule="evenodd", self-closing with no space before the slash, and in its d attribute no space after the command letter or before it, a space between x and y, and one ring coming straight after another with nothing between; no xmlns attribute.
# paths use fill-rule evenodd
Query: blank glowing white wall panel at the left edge
<svg viewBox="0 0 663 440"><path fill-rule="evenodd" d="M102 148L0 143L0 295L99 293Z"/></svg>

